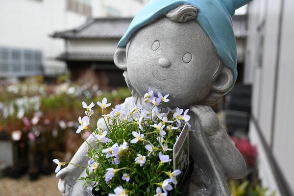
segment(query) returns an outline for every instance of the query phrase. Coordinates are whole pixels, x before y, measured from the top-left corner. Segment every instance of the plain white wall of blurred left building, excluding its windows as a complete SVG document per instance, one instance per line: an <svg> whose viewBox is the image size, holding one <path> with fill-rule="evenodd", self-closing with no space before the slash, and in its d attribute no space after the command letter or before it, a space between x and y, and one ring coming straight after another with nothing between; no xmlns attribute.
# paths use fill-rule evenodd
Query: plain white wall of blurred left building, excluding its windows
<svg viewBox="0 0 294 196"><path fill-rule="evenodd" d="M83 24L86 17L66 10L66 0L0 0L0 46L40 49L46 68L65 64L53 60L64 41L49 34Z"/></svg>

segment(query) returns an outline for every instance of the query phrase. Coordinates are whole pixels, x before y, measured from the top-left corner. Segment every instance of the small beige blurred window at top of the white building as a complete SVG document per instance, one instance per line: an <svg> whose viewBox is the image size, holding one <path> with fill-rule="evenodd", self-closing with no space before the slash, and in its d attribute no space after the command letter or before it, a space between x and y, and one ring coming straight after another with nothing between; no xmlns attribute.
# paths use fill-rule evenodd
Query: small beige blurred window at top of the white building
<svg viewBox="0 0 294 196"><path fill-rule="evenodd" d="M67 9L85 16L91 16L91 0L67 0Z"/></svg>

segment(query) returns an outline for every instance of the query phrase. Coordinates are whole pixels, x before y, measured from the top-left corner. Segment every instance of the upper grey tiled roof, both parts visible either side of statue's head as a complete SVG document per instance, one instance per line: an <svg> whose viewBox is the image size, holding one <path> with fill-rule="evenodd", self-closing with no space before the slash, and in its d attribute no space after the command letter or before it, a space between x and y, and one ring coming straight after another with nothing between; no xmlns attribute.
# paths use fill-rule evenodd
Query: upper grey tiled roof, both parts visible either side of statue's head
<svg viewBox="0 0 294 196"><path fill-rule="evenodd" d="M89 19L78 28L55 32L52 37L65 39L120 39L131 23L132 18ZM238 15L233 18L236 38L247 36L247 18Z"/></svg>

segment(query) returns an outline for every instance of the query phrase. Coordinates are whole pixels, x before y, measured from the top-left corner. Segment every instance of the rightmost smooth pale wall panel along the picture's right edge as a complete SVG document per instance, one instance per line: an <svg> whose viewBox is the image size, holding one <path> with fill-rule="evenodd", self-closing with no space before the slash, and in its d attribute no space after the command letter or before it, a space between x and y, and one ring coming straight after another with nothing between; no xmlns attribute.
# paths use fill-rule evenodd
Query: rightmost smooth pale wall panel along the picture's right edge
<svg viewBox="0 0 294 196"><path fill-rule="evenodd" d="M273 153L294 192L294 0L284 3Z"/></svg>

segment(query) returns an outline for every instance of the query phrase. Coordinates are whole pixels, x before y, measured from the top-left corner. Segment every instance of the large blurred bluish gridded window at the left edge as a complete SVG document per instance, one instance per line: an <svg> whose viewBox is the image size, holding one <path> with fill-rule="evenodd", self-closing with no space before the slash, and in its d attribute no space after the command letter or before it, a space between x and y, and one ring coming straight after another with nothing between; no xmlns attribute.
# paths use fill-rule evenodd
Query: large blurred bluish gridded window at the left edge
<svg viewBox="0 0 294 196"><path fill-rule="evenodd" d="M0 47L0 77L42 73L42 51Z"/></svg>

